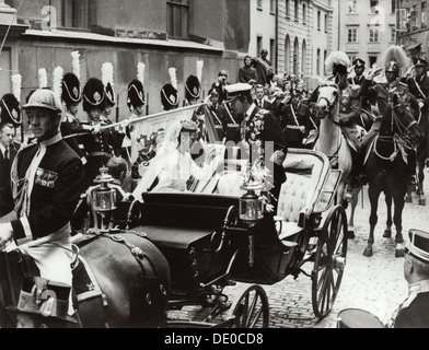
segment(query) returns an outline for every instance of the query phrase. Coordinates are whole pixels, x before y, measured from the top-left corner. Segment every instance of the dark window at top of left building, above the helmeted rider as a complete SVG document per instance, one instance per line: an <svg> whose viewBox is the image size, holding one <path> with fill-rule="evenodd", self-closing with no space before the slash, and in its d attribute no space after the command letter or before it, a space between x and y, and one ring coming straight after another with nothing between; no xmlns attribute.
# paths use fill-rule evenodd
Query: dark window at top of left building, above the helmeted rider
<svg viewBox="0 0 429 350"><path fill-rule="evenodd" d="M67 28L91 28L90 0L61 0L59 25Z"/></svg>

